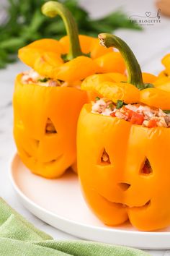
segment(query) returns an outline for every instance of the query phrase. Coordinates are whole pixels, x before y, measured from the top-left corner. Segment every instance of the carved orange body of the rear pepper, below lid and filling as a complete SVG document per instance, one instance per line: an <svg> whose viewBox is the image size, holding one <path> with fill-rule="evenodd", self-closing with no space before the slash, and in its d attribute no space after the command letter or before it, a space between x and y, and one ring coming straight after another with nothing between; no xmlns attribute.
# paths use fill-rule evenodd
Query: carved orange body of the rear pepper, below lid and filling
<svg viewBox="0 0 170 256"><path fill-rule="evenodd" d="M76 124L86 93L69 87L22 85L14 88L14 139L30 170L47 178L76 161Z"/></svg>

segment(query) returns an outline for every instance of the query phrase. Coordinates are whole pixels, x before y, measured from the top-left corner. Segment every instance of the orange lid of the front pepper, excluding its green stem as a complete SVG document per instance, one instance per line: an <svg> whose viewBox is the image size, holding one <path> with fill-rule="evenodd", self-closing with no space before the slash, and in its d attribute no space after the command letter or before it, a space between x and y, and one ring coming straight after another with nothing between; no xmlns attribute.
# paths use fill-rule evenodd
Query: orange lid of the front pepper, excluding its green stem
<svg viewBox="0 0 170 256"><path fill-rule="evenodd" d="M118 100L125 103L145 103L148 106L161 108L163 110L170 109L170 83L162 83L157 85L156 88L146 88L139 90L128 82L121 80L115 81L115 77L109 74L93 74L81 83L82 90L91 90L98 95L103 95L113 102L117 103ZM144 74L145 81L151 80L151 74ZM120 82L121 80L121 82ZM154 80L156 82L156 80Z"/></svg>

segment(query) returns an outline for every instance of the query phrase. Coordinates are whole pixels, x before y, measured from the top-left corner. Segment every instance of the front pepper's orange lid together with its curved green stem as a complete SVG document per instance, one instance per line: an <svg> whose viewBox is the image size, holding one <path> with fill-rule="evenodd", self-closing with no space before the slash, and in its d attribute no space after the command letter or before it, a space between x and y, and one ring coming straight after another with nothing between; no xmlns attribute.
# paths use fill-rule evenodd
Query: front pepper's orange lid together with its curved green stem
<svg viewBox="0 0 170 256"><path fill-rule="evenodd" d="M163 110L170 109L169 86L165 82L161 85L158 83L157 86L154 86L154 82L156 83L156 81L158 81L157 78L152 74L141 73L140 66L133 52L128 48L125 42L122 43L120 38L117 39L117 37L109 34L101 34L101 36L101 40L104 41L105 46L110 47L114 42L113 45L117 47L122 56L124 56L129 74L128 82L125 82L125 80L116 82L114 78L108 79L106 77L105 80L100 79L99 82L92 83L91 81L94 80L94 78L97 80L97 75L95 74L87 77L84 82L82 82L81 88L83 90L89 90L90 88L115 103L121 100L125 103L145 103L148 106L161 108ZM104 75L106 76L107 74Z"/></svg>

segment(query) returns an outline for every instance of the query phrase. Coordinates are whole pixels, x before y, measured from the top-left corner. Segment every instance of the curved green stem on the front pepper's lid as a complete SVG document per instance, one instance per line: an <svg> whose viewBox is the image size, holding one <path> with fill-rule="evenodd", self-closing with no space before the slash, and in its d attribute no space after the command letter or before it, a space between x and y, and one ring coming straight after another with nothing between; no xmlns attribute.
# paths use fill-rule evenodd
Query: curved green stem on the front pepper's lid
<svg viewBox="0 0 170 256"><path fill-rule="evenodd" d="M143 83L140 65L127 43L125 43L121 38L107 33L99 34L98 37L102 46L107 48L115 47L120 51L128 71L128 82L135 85L139 90L146 88Z"/></svg>

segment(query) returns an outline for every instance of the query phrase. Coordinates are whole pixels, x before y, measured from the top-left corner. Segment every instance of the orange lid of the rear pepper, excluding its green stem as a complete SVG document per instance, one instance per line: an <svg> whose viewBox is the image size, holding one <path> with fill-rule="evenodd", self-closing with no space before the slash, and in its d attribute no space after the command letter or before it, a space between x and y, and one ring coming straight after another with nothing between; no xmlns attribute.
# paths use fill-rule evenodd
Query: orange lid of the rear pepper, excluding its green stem
<svg viewBox="0 0 170 256"><path fill-rule="evenodd" d="M88 56L77 56L64 63L68 54L68 36L61 40L40 39L19 49L19 59L46 77L73 82L95 73L125 72L125 63L119 52L103 48L97 38L79 35L81 51ZM112 66L111 66L112 65Z"/></svg>

